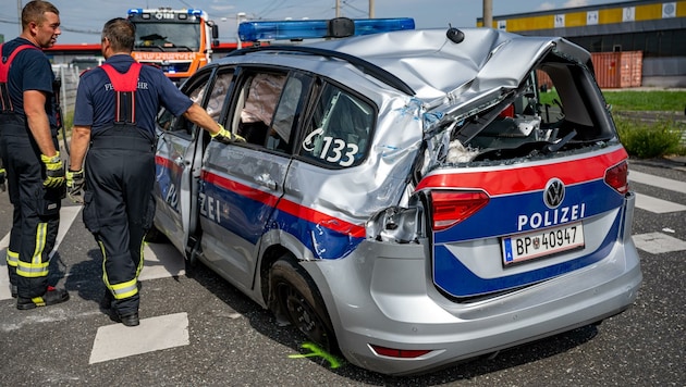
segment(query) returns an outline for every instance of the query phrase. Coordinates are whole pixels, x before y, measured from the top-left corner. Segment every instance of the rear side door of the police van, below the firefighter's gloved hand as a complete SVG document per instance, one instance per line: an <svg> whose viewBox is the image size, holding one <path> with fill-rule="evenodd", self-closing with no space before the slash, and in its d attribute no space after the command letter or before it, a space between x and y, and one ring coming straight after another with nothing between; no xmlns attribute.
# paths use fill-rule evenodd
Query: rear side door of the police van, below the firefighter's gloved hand
<svg viewBox="0 0 686 387"><path fill-rule="evenodd" d="M235 286L253 285L260 241L283 196L297 117L309 77L296 72L243 68L226 129L246 142L211 141L199 197L206 261Z"/></svg>

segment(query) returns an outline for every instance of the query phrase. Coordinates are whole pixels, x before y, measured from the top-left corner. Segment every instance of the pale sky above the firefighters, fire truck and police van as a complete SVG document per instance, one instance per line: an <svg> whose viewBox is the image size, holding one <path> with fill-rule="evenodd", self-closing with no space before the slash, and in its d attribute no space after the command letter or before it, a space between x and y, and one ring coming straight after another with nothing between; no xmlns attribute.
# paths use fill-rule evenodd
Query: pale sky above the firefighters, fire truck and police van
<svg viewBox="0 0 686 387"><path fill-rule="evenodd" d="M341 16L364 18L370 0L339 0ZM493 16L598 5L622 0L492 0ZM2 0L0 34L10 40L20 34L21 7L27 0ZM237 14L249 20L332 18L336 0L52 0L60 10L62 35L57 43L98 43L100 29L131 8L198 8L219 26L222 42L236 41ZM12 3L12 4L10 4ZM376 17L414 17L417 28L474 27L482 15L482 0L372 0ZM8 7L13 5L13 7Z"/></svg>

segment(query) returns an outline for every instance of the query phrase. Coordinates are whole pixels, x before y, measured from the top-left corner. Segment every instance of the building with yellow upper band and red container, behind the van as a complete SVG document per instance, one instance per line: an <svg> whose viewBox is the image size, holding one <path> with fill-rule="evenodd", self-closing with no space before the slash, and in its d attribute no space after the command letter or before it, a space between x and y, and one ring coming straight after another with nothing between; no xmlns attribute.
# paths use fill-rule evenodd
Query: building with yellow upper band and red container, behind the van
<svg viewBox="0 0 686 387"><path fill-rule="evenodd" d="M477 26L483 26L482 18ZM617 77L630 77L621 73L638 71L640 83L630 86L686 87L686 0L625 1L501 15L493 16L492 27L522 35L564 36L593 54L599 76L615 71ZM602 87L601 80L600 76Z"/></svg>

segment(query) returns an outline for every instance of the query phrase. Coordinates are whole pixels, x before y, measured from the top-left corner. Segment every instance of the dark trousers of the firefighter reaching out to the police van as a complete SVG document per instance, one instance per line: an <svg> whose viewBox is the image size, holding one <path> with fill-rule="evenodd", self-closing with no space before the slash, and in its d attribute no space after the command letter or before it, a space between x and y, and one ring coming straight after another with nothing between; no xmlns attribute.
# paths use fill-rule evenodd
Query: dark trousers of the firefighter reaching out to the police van
<svg viewBox="0 0 686 387"><path fill-rule="evenodd" d="M138 311L144 237L152 225L154 141L130 125L93 135L85 162L84 224L102 251L102 280L120 315Z"/></svg>

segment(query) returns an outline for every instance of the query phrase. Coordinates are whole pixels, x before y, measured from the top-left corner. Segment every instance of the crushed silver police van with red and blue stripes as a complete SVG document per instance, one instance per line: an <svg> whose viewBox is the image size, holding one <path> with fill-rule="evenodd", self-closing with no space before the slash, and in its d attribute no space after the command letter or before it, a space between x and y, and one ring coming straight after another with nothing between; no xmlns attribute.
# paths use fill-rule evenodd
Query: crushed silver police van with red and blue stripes
<svg viewBox="0 0 686 387"><path fill-rule="evenodd" d="M161 112L154 230L279 323L383 374L632 305L636 197L586 50L334 21L322 36L354 36L237 50L182 86L246 141ZM283 39L314 22L240 33Z"/></svg>

